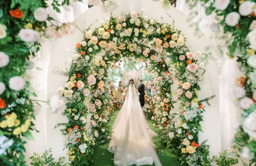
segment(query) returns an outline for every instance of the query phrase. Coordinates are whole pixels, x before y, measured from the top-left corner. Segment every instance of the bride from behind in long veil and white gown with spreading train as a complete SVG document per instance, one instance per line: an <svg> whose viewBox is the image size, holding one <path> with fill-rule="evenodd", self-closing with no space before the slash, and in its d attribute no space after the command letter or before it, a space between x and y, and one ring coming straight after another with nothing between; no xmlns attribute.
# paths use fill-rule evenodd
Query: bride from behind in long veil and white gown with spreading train
<svg viewBox="0 0 256 166"><path fill-rule="evenodd" d="M157 134L148 126L138 95L134 81L130 80L124 90L125 102L112 126L108 151L115 154L115 166L162 166L152 140Z"/></svg>

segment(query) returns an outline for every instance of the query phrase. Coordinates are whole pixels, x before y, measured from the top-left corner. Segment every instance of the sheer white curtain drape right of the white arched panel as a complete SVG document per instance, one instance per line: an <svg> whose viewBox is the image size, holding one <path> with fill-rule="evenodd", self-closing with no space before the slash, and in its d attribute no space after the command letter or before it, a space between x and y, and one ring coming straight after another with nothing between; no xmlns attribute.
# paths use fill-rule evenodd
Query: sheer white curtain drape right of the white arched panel
<svg viewBox="0 0 256 166"><path fill-rule="evenodd" d="M177 0L177 8L189 15L189 7L185 3L185 0ZM194 21L199 21L199 28L201 31L209 37L212 45L216 43L214 39L214 33L209 28L214 23L213 16L206 16L205 9L198 4L194 9L198 12L198 17L194 18ZM212 39L210 39L213 37ZM225 49L225 48L223 48ZM230 138L234 135L233 126L240 121L241 112L236 107L236 100L233 95L233 88L235 87L236 78L242 76L242 73L238 69L238 63L235 59L228 59L224 55L224 58L217 56L214 49L211 49L213 58L219 64L219 104L220 104L220 121L221 121L221 149L225 150L230 145ZM213 59L211 59L213 60Z"/></svg>

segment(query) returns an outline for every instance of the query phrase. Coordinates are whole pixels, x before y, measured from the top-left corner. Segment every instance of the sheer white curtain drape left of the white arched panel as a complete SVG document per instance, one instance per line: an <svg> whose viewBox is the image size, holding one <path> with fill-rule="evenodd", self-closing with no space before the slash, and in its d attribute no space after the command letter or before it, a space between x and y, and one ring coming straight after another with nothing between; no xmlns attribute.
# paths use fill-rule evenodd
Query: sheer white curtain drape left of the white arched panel
<svg viewBox="0 0 256 166"><path fill-rule="evenodd" d="M48 0L47 3L50 6L53 0ZM52 7L47 8L48 14L51 17L60 21L61 23L67 23L74 21L80 14L84 11L88 10L87 0L83 0L83 2L74 2L72 6L69 7L60 7L61 13L57 13L52 9ZM48 66L51 58L51 52L54 48L54 43L56 42L50 40L41 41L40 52L36 56L36 58L32 58L31 61L34 62L35 66L33 69L27 70L26 77L31 82L31 86L33 90L36 92L37 97L31 96L34 100L47 101L47 73ZM26 152L25 158L27 163L30 163L29 157L33 155L34 152L43 154L46 150L48 150L49 142L47 142L47 114L53 114L47 112L48 106L45 102L40 102L42 107L35 107L36 110L36 121L34 121L36 125L36 129L39 130L39 133L33 131L32 134L34 136L34 141L28 141L25 144ZM52 126L54 128L54 126Z"/></svg>

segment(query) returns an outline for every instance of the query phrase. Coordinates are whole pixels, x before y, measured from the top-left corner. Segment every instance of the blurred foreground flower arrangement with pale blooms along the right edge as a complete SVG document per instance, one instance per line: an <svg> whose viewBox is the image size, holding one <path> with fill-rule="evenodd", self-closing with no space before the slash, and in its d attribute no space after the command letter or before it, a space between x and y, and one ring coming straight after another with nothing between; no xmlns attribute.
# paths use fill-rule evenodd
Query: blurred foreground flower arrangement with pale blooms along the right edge
<svg viewBox="0 0 256 166"><path fill-rule="evenodd" d="M222 36L227 46L229 58L237 57L240 70L245 76L238 78L234 94L242 109L242 124L238 127L233 144L228 150L235 156L252 157L250 165L255 164L256 156L253 147L256 145L255 118L256 101L256 65L255 34L256 10L253 0L187 0L191 8L198 3L206 10L206 15L214 14L216 22L212 30ZM192 12L192 14L195 14ZM243 137L241 136L243 135ZM235 149L235 150L234 150ZM251 155L250 155L251 154Z"/></svg>

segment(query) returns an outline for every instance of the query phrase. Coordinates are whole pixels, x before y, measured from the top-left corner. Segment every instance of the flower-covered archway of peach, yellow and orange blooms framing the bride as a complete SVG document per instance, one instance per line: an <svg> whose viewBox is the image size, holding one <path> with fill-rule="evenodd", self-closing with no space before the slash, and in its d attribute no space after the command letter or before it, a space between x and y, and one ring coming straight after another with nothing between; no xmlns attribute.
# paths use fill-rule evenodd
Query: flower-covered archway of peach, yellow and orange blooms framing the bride
<svg viewBox="0 0 256 166"><path fill-rule="evenodd" d="M199 101L197 98L204 64L198 67L195 57L202 53L189 52L181 31L169 24L148 20L136 12L107 17L106 23L101 22L102 26L94 31L81 30L84 39L76 44L69 80L65 88L58 89L67 100L63 114L69 118L69 123L61 124L66 127L61 131L66 135L65 145L69 147L68 155L73 164L89 164L95 145L111 138L111 126L107 124L111 113L107 94L108 69L118 68L120 60L132 57L151 64L159 85L153 118L162 128L160 132L165 141L172 142L182 158L180 164L188 154L195 156L194 163L199 164L202 160L207 163L207 153L202 152L207 152L208 147L200 146L197 136L204 111L202 102L210 99ZM170 64L174 64L174 68ZM179 80L177 101L172 100L176 93L171 92L173 78ZM173 114L171 108L175 102L180 102L181 107L180 113ZM177 123L173 122L173 116L178 116Z"/></svg>

